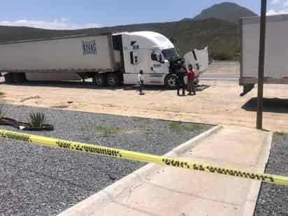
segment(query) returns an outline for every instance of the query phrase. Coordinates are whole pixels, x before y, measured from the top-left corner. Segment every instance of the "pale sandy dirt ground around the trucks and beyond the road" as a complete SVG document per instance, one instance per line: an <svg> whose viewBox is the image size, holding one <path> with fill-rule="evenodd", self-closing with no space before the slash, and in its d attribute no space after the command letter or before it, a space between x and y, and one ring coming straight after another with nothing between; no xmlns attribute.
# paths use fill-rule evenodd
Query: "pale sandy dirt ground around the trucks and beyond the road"
<svg viewBox="0 0 288 216"><path fill-rule="evenodd" d="M214 72L213 72L214 71ZM238 73L238 63L215 63L209 73ZM257 88L240 97L236 80L201 80L209 85L196 96L176 96L174 90L149 87L139 96L136 89L97 89L91 85L0 85L1 100L24 106L62 108L206 124L255 127ZM264 86L264 129L288 132L287 85ZM274 98L278 99L274 99ZM68 103L73 101L73 103Z"/></svg>

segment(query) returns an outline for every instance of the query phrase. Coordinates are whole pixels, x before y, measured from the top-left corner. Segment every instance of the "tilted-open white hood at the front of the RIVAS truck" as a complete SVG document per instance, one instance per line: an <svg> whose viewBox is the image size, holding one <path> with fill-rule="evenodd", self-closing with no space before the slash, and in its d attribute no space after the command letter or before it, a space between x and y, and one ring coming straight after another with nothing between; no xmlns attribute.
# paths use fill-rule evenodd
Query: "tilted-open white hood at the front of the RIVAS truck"
<svg viewBox="0 0 288 216"><path fill-rule="evenodd" d="M187 52L184 58L187 69L189 64L192 64L196 77L198 77L199 74L203 73L203 71L205 71L209 66L208 47L203 50L194 49Z"/></svg>

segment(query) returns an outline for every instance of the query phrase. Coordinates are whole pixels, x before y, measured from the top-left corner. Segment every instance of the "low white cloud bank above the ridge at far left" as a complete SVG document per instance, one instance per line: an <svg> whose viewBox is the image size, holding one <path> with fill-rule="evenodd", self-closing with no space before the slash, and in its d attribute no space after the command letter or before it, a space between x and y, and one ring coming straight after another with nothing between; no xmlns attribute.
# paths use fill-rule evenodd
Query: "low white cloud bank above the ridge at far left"
<svg viewBox="0 0 288 216"><path fill-rule="evenodd" d="M98 23L76 24L73 22L69 22L66 18L61 18L60 20L53 20L52 22L43 20L0 21L0 25L16 27L35 27L40 29L85 29L101 27L101 24Z"/></svg>

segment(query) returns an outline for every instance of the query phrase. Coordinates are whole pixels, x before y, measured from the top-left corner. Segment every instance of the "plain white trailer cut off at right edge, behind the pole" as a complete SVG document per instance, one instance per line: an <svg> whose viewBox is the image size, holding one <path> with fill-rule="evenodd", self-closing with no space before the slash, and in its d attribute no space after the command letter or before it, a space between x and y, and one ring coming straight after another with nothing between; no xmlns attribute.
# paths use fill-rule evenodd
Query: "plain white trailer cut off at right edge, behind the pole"
<svg viewBox="0 0 288 216"><path fill-rule="evenodd" d="M258 82L260 17L244 17L241 24L240 85L243 96ZM288 15L266 17L264 83L288 84Z"/></svg>

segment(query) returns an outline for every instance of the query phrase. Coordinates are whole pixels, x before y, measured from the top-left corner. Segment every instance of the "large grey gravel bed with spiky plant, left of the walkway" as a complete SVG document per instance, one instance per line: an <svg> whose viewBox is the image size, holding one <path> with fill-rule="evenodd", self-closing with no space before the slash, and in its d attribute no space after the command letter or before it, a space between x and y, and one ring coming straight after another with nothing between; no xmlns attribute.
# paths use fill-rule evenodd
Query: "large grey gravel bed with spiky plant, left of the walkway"
<svg viewBox="0 0 288 216"><path fill-rule="evenodd" d="M6 108L6 117L20 121L27 121L31 111L44 112L55 126L55 131L31 134L159 155L211 127L27 106ZM57 215L143 165L1 139L0 215Z"/></svg>

